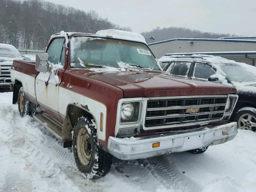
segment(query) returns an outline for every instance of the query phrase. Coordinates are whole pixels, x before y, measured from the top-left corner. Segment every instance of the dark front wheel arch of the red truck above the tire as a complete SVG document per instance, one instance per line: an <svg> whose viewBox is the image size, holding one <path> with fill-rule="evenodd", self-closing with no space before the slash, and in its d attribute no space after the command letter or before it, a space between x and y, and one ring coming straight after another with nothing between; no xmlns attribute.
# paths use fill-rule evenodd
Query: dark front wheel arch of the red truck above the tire
<svg viewBox="0 0 256 192"><path fill-rule="evenodd" d="M62 140L64 142L72 141L73 128L76 124L76 121L81 116L91 117L96 122L95 116L90 112L88 108L85 108L83 106L78 106L76 104L69 104L67 106L66 116L64 118L63 129L62 129ZM96 126L97 126L97 122L96 122Z"/></svg>

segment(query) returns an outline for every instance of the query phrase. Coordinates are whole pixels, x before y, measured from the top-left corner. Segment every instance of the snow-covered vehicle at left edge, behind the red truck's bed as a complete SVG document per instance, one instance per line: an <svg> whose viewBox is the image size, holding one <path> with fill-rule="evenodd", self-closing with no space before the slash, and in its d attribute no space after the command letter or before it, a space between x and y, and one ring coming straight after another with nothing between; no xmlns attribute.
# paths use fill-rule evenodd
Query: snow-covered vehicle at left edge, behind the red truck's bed
<svg viewBox="0 0 256 192"><path fill-rule="evenodd" d="M11 88L10 69L14 59L22 59L18 50L12 45L0 44L0 88Z"/></svg>

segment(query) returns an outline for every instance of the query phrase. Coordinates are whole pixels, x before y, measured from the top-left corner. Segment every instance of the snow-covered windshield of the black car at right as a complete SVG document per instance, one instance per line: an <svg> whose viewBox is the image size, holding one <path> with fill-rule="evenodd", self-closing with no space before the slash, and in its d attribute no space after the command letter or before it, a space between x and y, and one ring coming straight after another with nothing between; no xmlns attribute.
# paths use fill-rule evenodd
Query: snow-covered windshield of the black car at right
<svg viewBox="0 0 256 192"><path fill-rule="evenodd" d="M256 82L256 74L237 64L219 64L220 68L230 81L234 82Z"/></svg>

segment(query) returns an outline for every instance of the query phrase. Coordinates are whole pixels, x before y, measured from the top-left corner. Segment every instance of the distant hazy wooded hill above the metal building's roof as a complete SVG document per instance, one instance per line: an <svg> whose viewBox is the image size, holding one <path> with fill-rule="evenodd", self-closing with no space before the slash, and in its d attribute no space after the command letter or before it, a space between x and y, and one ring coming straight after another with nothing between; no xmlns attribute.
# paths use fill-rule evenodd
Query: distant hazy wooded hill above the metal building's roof
<svg viewBox="0 0 256 192"><path fill-rule="evenodd" d="M174 38L220 38L224 36L231 36L230 34L220 34L220 33L209 33L209 32L201 32L199 30L191 30L184 27L169 27L162 28L156 27L150 32L142 32L141 33L146 39L147 43L151 43L152 41L149 39L150 36L155 38L155 42L174 39ZM236 36L232 34L232 36Z"/></svg>

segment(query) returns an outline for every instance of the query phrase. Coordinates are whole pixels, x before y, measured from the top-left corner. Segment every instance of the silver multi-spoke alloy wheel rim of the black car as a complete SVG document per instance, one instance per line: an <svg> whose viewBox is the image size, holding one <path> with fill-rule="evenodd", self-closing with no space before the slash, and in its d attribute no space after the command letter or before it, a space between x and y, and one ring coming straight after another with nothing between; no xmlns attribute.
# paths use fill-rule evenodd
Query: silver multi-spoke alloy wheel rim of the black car
<svg viewBox="0 0 256 192"><path fill-rule="evenodd" d="M238 128L256 131L256 118L252 114L243 114L238 119Z"/></svg>

